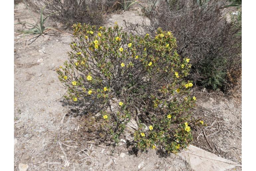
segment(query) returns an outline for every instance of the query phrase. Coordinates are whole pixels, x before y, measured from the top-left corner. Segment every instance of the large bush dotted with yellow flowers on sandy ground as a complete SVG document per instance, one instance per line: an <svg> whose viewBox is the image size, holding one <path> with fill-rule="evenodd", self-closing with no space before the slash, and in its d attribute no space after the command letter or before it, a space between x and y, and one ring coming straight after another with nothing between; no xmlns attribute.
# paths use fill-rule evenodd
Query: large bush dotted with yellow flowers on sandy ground
<svg viewBox="0 0 256 171"><path fill-rule="evenodd" d="M117 143L127 123L137 148L177 152L192 140L188 124L196 98L185 81L191 64L181 58L171 32L134 36L113 28L74 24L68 61L57 73L64 96L96 124L100 140ZM82 109L78 109L82 110Z"/></svg>

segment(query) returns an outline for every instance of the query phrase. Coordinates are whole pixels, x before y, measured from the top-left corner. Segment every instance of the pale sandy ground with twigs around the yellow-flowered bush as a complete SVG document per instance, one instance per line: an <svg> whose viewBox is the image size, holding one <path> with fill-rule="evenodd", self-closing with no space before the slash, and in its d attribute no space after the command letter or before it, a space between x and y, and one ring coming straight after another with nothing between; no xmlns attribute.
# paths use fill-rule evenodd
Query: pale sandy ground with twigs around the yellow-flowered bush
<svg viewBox="0 0 256 171"><path fill-rule="evenodd" d="M15 13L14 23L33 22L23 3L15 6ZM39 18L39 14L35 15ZM108 24L111 25L114 20L110 19ZM28 170L32 171L191 170L189 164L178 155L163 157L149 150L136 156L125 144L114 148L88 143L88 137L83 132L86 127L84 117L69 115L69 109L60 102L66 90L55 71L67 59L66 52L70 50L68 43L72 38L65 34L49 33L25 44L28 38L19 39L21 35L16 32L19 29L22 29L22 25L14 26L15 170L19 170L19 163L28 164ZM219 96L219 99L213 100L199 97L197 108L205 113L205 118L211 116L219 122L226 122L221 123L221 127L218 123L212 125L212 128L224 130L221 131L223 136L216 133L217 139L211 138L212 142L217 146L219 155L241 163L241 104L235 99ZM211 125L213 121L209 120L207 124ZM206 134L210 134L210 130L205 130ZM200 133L200 130L197 132ZM207 147L202 135L198 137L198 142L195 141L194 145L197 144L218 155L217 150ZM231 148L231 145L235 148Z"/></svg>

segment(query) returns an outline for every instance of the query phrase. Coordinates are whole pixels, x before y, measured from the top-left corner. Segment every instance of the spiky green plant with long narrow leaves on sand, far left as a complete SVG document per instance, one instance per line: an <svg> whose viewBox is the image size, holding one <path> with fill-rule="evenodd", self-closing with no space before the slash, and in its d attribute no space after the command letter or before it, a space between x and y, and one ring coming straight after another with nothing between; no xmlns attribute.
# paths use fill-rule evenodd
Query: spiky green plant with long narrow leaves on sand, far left
<svg viewBox="0 0 256 171"><path fill-rule="evenodd" d="M46 7L48 4L46 4L45 6L43 6L43 8L41 9L41 13L40 13L40 22L38 23L38 22L36 21L35 17L32 15L32 12L31 12L31 10L29 9L29 7L28 7L28 5L26 4L26 2L25 2L25 1L23 1L23 2L25 3L26 7L27 7L28 10L29 10L30 15L33 17L34 21L35 21L37 24L31 24L31 23L27 23L27 22L17 23L17 24L28 24L29 27L31 27L31 28L28 29L28 30L21 30L21 31L20 31L21 33L20 33L20 34L24 34L24 36L26 36L26 35L43 35L43 34L45 34L46 32L48 32L48 31L50 31L50 30L56 30L56 31L62 32L62 31L60 31L60 30L58 30L58 29L55 29L55 28L53 28L53 27L45 27L45 26L44 26L44 23L45 23L46 19L47 19L49 16L58 13L58 12L55 12L55 13L49 14L48 16L46 16L46 17L44 18L44 16L43 16L43 11L44 11L45 7ZM64 32L62 32L62 33L64 33Z"/></svg>

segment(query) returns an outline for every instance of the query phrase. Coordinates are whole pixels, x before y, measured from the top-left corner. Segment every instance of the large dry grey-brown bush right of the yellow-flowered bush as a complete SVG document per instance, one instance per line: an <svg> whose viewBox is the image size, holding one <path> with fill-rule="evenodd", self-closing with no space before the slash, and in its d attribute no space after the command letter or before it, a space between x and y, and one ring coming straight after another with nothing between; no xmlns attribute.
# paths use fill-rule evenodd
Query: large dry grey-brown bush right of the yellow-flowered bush
<svg viewBox="0 0 256 171"><path fill-rule="evenodd" d="M172 31L177 52L191 59L190 79L196 85L228 91L241 75L241 11L231 21L225 18L226 1L208 1L203 6L187 0L161 1L147 13L151 25ZM133 27L134 29L134 27Z"/></svg>

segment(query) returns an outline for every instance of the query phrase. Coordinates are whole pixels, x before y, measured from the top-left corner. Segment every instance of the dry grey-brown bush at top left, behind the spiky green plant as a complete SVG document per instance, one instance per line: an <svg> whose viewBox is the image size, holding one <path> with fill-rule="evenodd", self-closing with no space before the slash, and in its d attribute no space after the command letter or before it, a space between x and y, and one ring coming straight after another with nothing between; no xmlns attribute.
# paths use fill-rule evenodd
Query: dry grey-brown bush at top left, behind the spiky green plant
<svg viewBox="0 0 256 171"><path fill-rule="evenodd" d="M47 5L44 13L70 28L74 23L87 23L100 26L104 22L103 12L116 6L116 0L40 0L31 2L40 9Z"/></svg>

